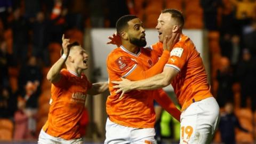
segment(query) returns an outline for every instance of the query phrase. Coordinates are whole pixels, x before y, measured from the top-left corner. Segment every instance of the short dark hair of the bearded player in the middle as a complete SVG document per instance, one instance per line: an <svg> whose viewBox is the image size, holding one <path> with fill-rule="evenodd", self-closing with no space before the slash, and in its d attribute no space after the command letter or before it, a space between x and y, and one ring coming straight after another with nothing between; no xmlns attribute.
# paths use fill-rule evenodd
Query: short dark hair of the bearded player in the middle
<svg viewBox="0 0 256 144"><path fill-rule="evenodd" d="M117 34L120 34L121 31L126 27L128 26L128 22L130 20L133 20L133 19L136 19L138 18L136 15L124 15L123 17L119 18L117 21L116 21L116 31L117 31Z"/></svg>

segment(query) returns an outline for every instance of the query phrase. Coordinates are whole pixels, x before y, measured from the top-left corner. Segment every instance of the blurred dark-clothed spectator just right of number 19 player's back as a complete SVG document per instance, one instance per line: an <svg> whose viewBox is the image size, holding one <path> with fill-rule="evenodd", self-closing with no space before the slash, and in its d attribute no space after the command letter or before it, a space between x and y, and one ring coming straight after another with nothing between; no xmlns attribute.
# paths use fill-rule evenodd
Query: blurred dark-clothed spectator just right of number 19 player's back
<svg viewBox="0 0 256 144"><path fill-rule="evenodd" d="M232 85L234 83L234 76L230 69L230 62L228 58L222 57L220 60L220 68L217 71L217 101L220 107L223 107L227 101L233 101Z"/></svg>

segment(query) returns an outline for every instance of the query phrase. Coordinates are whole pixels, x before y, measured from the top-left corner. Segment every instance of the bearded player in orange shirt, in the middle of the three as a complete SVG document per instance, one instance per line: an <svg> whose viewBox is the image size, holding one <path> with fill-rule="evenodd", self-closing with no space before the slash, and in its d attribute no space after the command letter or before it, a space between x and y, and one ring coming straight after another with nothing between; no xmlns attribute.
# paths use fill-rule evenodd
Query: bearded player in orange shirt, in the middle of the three
<svg viewBox="0 0 256 144"><path fill-rule="evenodd" d="M109 81L120 81L120 77L136 81L161 73L169 59L171 47L179 38L178 35L165 37L164 50L162 47L161 50L158 47L144 48L145 29L135 15L124 15L118 19L116 29L122 45L108 55ZM106 102L108 119L105 143L153 143L154 99L175 118L180 119L180 110L163 90L134 91L119 99L120 94L115 93L113 86L109 84L110 95Z"/></svg>

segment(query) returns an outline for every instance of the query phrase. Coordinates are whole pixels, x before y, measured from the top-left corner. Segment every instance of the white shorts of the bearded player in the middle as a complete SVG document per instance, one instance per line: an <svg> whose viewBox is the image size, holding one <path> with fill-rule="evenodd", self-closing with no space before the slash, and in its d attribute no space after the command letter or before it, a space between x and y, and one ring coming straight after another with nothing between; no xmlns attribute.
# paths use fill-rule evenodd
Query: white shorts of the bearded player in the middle
<svg viewBox="0 0 256 144"><path fill-rule="evenodd" d="M153 144L155 139L154 128L133 128L113 123L107 118L105 144Z"/></svg>

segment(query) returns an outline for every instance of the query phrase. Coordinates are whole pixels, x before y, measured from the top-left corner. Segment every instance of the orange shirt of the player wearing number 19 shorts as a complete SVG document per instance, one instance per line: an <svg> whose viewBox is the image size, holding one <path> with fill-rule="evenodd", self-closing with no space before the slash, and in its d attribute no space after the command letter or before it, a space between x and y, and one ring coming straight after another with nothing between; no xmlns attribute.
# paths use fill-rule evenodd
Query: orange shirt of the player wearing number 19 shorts
<svg viewBox="0 0 256 144"><path fill-rule="evenodd" d="M161 51L163 44L158 42L151 47ZM212 97L203 60L194 43L186 35L181 35L179 42L174 45L165 67L179 71L171 84L181 105L181 111L195 101Z"/></svg>

